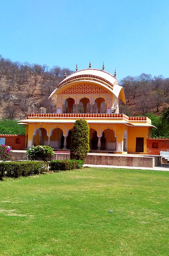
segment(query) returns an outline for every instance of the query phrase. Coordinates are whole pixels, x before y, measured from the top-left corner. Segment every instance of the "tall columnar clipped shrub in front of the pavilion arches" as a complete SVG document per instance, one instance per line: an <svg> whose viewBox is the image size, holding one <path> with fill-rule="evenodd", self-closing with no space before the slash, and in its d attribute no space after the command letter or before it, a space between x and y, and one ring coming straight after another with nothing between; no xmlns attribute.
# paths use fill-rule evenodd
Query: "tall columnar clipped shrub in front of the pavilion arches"
<svg viewBox="0 0 169 256"><path fill-rule="evenodd" d="M73 126L70 159L85 160L89 150L89 125L86 120L78 119Z"/></svg>

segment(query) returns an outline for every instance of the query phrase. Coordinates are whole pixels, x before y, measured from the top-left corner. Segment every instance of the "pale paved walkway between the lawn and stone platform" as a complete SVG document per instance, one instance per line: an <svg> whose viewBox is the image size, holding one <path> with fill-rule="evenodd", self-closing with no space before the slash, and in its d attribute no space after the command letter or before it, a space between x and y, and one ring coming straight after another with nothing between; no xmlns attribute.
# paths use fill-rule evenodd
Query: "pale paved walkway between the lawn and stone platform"
<svg viewBox="0 0 169 256"><path fill-rule="evenodd" d="M117 165L98 165L98 164L84 164L88 167L101 167L101 168L120 168L120 169L136 169L136 170L151 170L151 171L165 171L169 172L169 164L161 164L155 167L137 167L137 166L117 166Z"/></svg>

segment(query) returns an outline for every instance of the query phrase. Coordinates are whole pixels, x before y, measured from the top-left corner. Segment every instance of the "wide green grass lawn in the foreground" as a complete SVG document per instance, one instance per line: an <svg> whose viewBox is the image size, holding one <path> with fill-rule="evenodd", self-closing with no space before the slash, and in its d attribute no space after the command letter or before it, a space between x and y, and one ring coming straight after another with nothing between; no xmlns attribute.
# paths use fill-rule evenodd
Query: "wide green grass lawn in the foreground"
<svg viewBox="0 0 169 256"><path fill-rule="evenodd" d="M168 178L84 168L1 181L0 255L168 256Z"/></svg>

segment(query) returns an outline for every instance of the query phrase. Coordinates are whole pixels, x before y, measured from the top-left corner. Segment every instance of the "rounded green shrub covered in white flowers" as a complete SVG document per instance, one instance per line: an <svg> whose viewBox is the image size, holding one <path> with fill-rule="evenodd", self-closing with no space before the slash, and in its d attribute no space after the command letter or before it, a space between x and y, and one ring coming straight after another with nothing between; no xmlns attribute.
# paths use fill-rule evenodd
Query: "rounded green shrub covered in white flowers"
<svg viewBox="0 0 169 256"><path fill-rule="evenodd" d="M44 162L47 161L47 158L51 158L54 154L53 148L50 146L32 146L26 150L26 155L31 160L43 160Z"/></svg>

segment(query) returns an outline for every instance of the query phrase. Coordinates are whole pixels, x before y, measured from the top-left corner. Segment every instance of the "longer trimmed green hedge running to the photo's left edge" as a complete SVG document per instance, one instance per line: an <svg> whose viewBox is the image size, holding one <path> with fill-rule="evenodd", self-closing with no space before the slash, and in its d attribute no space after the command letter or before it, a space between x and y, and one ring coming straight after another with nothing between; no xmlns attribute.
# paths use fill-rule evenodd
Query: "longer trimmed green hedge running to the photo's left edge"
<svg viewBox="0 0 169 256"><path fill-rule="evenodd" d="M0 178L28 176L42 173L47 170L47 165L41 161L22 161L22 162L1 162Z"/></svg>

